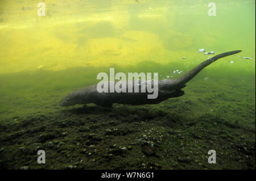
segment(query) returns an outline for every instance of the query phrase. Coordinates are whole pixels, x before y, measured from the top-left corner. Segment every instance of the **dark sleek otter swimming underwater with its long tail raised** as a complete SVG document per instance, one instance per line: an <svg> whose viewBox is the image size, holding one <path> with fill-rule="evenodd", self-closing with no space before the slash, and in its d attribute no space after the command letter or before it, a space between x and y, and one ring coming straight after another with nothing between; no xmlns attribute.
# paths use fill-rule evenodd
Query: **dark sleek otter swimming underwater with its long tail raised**
<svg viewBox="0 0 256 181"><path fill-rule="evenodd" d="M87 104L94 103L99 106L112 106L113 103L118 104L130 104L130 105L142 105L142 104L158 104L163 100L168 98L176 98L184 95L184 91L181 89L185 87L185 83L190 81L193 77L196 76L202 69L206 66L212 64L212 62L218 60L219 58L230 56L241 52L242 50L234 50L231 52L225 52L218 54L208 60L197 65L194 69L186 73L180 78L177 79L163 79L158 81L158 97L156 99L148 99L148 92L98 92L97 85L92 85L84 87L80 90L73 91L67 96L65 96L59 103L59 106L72 106L75 104ZM126 81L126 85L134 83L134 81ZM139 82L139 90L142 86L146 85L146 81ZM154 80L151 81L152 85ZM109 82L110 86L110 82ZM126 86L128 89L128 86Z"/></svg>

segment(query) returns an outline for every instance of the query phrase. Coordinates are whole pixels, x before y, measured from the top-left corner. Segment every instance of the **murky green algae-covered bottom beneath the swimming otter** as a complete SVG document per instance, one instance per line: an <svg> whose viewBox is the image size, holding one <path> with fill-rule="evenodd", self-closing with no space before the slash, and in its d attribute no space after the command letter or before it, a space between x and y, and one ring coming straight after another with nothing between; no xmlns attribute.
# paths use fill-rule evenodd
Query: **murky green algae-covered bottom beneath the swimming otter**
<svg viewBox="0 0 256 181"><path fill-rule="evenodd" d="M0 169L255 169L255 76L203 73L185 95L155 105L60 108L77 86L72 72L1 75L9 86L1 90ZM69 85L50 86L60 78Z"/></svg>

